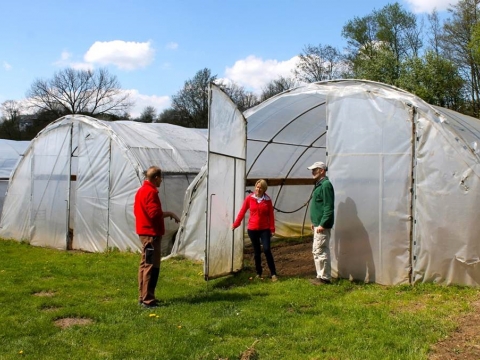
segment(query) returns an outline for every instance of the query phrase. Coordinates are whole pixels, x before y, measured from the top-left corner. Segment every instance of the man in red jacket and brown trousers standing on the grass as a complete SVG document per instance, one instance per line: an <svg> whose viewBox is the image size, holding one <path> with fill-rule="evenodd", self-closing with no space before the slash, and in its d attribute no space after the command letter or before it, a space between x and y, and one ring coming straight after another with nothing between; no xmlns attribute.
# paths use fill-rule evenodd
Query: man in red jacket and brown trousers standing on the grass
<svg viewBox="0 0 480 360"><path fill-rule="evenodd" d="M133 213L135 229L142 242L142 259L138 269L139 304L146 308L158 306L155 288L160 275L160 242L165 234L164 218L179 222L172 212L164 212L158 196L158 187L162 183L162 170L151 166L146 171L146 179L135 195Z"/></svg>

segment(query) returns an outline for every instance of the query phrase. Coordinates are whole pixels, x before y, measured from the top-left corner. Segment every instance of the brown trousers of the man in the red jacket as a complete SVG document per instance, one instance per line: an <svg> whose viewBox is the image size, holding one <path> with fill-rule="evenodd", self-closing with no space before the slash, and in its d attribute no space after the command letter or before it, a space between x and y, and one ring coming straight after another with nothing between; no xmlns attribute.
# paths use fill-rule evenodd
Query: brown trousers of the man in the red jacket
<svg viewBox="0 0 480 360"><path fill-rule="evenodd" d="M139 301L152 304L155 300L155 288L160 275L160 242L161 236L139 235L142 242L142 258L138 268Z"/></svg>

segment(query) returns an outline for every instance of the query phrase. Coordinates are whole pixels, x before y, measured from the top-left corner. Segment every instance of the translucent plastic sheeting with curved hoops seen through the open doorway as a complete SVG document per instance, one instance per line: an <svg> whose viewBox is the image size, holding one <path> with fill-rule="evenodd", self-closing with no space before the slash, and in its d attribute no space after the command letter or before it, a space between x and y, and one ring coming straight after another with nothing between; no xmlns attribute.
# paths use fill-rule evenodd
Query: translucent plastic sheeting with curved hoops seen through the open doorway
<svg viewBox="0 0 480 360"><path fill-rule="evenodd" d="M304 89L302 89L304 90ZM245 112L247 179L311 178L308 166L326 157L326 94L292 90ZM272 185L275 233L291 237L310 233L308 185ZM253 188L251 188L253 189Z"/></svg>

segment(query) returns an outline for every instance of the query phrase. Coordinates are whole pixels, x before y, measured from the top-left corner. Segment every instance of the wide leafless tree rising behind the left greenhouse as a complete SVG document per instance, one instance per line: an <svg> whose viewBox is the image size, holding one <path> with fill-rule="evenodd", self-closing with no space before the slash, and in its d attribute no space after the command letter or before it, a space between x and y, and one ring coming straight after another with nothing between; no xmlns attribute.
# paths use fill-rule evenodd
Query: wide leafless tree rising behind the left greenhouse
<svg viewBox="0 0 480 360"><path fill-rule="evenodd" d="M132 103L114 75L108 70L75 70L66 68L52 79L37 79L27 92L36 110L90 116L119 115Z"/></svg>

